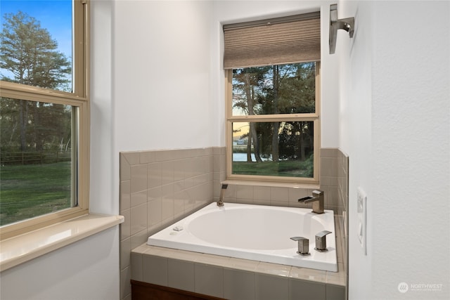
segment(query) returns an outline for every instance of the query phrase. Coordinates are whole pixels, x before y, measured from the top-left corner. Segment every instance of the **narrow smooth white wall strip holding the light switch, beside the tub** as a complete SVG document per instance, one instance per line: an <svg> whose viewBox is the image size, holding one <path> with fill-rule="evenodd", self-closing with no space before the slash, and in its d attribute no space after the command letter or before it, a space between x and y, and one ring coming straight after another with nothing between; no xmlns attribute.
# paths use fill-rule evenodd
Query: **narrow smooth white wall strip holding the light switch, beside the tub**
<svg viewBox="0 0 450 300"><path fill-rule="evenodd" d="M373 228L373 193L371 190L372 145L372 57L373 12L371 1L343 1L338 4L338 18L355 18L354 37L338 30L336 51L339 59L340 149L349 155L349 299L375 299L371 257ZM356 190L368 195L368 256L356 237Z"/></svg>

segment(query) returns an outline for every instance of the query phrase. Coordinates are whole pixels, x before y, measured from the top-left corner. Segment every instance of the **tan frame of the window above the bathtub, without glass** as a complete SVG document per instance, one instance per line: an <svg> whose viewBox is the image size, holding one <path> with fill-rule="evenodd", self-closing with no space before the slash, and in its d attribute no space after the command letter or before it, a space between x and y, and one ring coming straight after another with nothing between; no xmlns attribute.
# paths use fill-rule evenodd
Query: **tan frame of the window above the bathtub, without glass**
<svg viewBox="0 0 450 300"><path fill-rule="evenodd" d="M226 91L226 180L248 181L253 183L288 183L318 185L320 178L320 138L321 138L321 62L316 61L316 98L315 112L302 114L276 114L276 115L243 115L233 116L233 70L225 71ZM287 176L257 176L232 174L233 171L233 122L286 122L286 121L311 121L314 122L314 177L287 177Z"/></svg>

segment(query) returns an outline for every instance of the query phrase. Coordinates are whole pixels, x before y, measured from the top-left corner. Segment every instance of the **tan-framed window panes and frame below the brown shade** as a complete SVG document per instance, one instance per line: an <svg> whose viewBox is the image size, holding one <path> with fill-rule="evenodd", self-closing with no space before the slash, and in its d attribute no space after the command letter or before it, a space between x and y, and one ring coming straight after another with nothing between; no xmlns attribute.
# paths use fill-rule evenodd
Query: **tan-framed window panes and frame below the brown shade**
<svg viewBox="0 0 450 300"><path fill-rule="evenodd" d="M320 63L233 69L227 178L319 182Z"/></svg>

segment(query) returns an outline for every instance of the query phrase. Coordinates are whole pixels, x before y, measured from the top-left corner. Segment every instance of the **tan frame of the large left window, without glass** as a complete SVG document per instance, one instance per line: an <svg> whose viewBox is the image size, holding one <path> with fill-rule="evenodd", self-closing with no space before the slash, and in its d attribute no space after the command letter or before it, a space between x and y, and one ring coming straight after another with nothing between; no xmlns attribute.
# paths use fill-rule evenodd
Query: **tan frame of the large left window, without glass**
<svg viewBox="0 0 450 300"><path fill-rule="evenodd" d="M73 114L77 119L77 159L72 166L76 171L75 185L77 206L36 216L0 227L0 240L6 240L32 230L44 228L61 221L89 213L89 127L90 127L90 3L89 0L73 0L73 92L42 89L7 81L0 81L0 97L34 102L56 103L77 107ZM75 164L75 162L73 162ZM76 182L75 182L76 181Z"/></svg>

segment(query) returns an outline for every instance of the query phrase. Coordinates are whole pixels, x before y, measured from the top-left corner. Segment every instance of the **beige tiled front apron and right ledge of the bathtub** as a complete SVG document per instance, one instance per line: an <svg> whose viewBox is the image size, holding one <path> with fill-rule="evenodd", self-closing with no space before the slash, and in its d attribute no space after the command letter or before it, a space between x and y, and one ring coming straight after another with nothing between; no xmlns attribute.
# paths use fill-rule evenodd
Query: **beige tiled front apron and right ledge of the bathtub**
<svg viewBox="0 0 450 300"><path fill-rule="evenodd" d="M131 279L232 300L344 300L343 249L337 245L335 273L142 244L131 252Z"/></svg>

